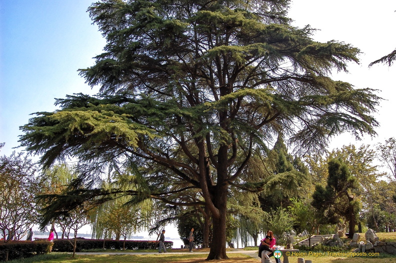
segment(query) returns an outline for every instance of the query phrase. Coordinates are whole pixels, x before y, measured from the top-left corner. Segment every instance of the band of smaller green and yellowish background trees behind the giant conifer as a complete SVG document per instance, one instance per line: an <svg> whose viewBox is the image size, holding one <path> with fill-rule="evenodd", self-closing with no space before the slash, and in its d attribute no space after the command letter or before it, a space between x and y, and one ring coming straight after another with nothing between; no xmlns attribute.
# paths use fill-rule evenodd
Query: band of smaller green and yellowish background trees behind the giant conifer
<svg viewBox="0 0 396 263"><path fill-rule="evenodd" d="M366 227L396 231L395 149L394 138L389 138L375 148L347 145L297 157L287 152L279 136L272 149L257 151L246 166L245 176L261 182L261 191L229 193L227 242L238 238L243 246L256 245L267 229L282 242L282 233L291 229L332 233L339 222L349 224L349 232ZM37 166L21 153L1 156L0 168L4 241L23 239L28 228L42 221L46 214L42 209L50 209L52 197L68 194L70 183L78 178L77 166L66 164L37 172ZM145 167L135 167L127 174L114 171L98 178L97 183L101 188L130 189L141 169ZM78 229L90 224L92 237L126 240L144 230L157 235L167 223L176 223L181 239L194 227L195 241L210 246L213 227L204 206L171 206L149 199L137 205L114 194L117 198L108 202L95 205L90 201L84 209L69 211L68 216L52 216L48 227L60 229L57 237L69 238L69 233L75 237ZM73 201L74 196L69 197Z"/></svg>

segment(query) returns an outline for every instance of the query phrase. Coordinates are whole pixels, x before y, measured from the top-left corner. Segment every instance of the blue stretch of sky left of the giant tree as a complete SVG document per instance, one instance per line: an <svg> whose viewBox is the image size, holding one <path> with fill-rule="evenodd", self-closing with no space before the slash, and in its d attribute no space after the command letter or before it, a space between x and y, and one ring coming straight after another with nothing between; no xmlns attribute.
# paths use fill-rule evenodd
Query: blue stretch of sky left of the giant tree
<svg viewBox="0 0 396 263"><path fill-rule="evenodd" d="M18 145L32 112L52 111L54 98L94 93L78 68L94 63L105 40L91 24L90 0L0 1L0 142Z"/></svg>

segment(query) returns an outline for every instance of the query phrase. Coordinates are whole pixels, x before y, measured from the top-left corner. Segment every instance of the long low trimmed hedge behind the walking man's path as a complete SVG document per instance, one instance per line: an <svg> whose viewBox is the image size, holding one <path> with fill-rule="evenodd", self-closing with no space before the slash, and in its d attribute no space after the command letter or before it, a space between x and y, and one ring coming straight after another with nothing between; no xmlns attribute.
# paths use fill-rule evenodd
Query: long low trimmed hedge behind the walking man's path
<svg viewBox="0 0 396 263"><path fill-rule="evenodd" d="M72 243L74 242L74 238L68 239ZM73 246L67 239L53 239L53 247L52 251L57 252L71 252L73 251ZM104 241L105 249L122 249L123 248L123 240L113 240L106 239ZM165 247L171 248L173 245L172 241L165 241ZM103 248L103 239L85 239L85 238L77 238L77 246L75 251L81 250L90 250L90 249L102 249ZM147 241L147 240L125 240L125 249L156 249L158 248L158 243L156 241Z"/></svg>

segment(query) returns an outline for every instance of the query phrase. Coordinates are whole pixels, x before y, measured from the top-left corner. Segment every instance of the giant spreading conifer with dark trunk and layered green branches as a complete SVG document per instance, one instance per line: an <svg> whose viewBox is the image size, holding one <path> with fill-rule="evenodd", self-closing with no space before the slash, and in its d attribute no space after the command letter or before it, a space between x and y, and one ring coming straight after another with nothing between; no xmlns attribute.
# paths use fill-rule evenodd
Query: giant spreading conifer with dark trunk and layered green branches
<svg viewBox="0 0 396 263"><path fill-rule="evenodd" d="M227 192L255 190L238 179L253 147L282 132L309 150L344 131L374 134L377 125L371 112L379 98L372 89L328 77L358 62L359 50L313 41L309 26L290 25L288 2L92 4L90 17L107 44L80 74L100 93L58 99L59 110L39 112L22 127L21 144L42 153L45 165L69 154L93 168L161 165L160 173L142 174L144 190L127 193L205 205L215 229L207 259L227 258ZM191 191L201 198L188 199Z"/></svg>

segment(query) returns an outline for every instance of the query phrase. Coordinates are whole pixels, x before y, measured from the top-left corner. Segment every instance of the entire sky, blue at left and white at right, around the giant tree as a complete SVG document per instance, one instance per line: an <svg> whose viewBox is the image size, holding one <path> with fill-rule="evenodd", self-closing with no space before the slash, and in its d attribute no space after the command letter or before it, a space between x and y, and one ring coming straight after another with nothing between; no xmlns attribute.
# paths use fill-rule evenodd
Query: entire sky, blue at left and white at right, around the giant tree
<svg viewBox="0 0 396 263"><path fill-rule="evenodd" d="M29 114L52 111L54 98L66 94L95 93L77 69L94 63L105 44L91 24L86 9L91 0L1 0L0 1L0 154L9 155L18 145L19 126ZM350 72L334 74L334 79L348 81L356 88L382 90L386 98L375 114L381 126L378 136L362 142L373 144L395 136L394 112L396 89L392 67L368 63L396 47L396 1L378 0L294 0L289 10L294 25L310 24L320 29L313 38L351 43L361 49L360 65L351 64ZM354 143L344 134L330 143L330 148ZM19 149L17 149L19 150Z"/></svg>

